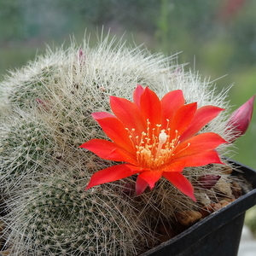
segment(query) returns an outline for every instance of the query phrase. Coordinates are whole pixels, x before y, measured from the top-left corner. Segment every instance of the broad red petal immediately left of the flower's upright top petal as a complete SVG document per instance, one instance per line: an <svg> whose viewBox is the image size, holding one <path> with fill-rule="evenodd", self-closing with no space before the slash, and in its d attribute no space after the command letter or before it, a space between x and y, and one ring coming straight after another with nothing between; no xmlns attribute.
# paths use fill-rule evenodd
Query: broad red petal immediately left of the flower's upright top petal
<svg viewBox="0 0 256 256"><path fill-rule="evenodd" d="M134 134L141 136L146 131L147 123L137 105L124 98L110 96L110 106L114 115L129 131L135 129Z"/></svg>

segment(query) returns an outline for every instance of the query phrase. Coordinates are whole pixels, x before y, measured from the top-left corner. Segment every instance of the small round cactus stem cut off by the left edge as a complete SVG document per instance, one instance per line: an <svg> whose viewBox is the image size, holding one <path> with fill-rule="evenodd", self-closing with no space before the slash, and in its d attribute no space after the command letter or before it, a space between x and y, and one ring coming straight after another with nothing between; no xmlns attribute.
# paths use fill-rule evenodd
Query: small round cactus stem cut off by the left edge
<svg viewBox="0 0 256 256"><path fill-rule="evenodd" d="M1 131L2 189L18 187L23 178L42 172L41 166L51 160L54 138L33 113L22 110L6 120Z"/></svg>

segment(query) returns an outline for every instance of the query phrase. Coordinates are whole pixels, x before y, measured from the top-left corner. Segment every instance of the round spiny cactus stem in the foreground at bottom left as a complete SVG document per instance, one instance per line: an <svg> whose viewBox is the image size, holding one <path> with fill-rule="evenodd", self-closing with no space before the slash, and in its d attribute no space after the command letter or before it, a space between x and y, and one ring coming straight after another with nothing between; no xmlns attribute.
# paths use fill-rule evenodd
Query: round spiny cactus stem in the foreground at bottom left
<svg viewBox="0 0 256 256"><path fill-rule="evenodd" d="M144 224L118 186L84 191L79 170L41 180L5 218L11 255L136 255L146 244ZM76 176L77 175L77 176ZM147 235L149 237L149 234Z"/></svg>

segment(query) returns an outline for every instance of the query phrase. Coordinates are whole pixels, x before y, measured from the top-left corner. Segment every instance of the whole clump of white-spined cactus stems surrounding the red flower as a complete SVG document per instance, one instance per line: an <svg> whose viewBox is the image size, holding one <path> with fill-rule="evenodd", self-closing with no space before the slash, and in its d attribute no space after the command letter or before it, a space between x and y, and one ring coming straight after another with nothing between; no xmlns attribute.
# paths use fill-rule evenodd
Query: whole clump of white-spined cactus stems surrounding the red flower
<svg viewBox="0 0 256 256"><path fill-rule="evenodd" d="M181 89L198 107L229 108L226 91L216 95L211 83L184 72L177 56L152 55L109 38L95 48L84 40L48 49L0 85L0 182L12 255L137 255L160 241L155 224L172 225L176 212L198 209L204 195L218 197L195 184L196 204L165 180L136 196L132 177L84 191L92 173L113 165L79 148L91 138L107 138L90 113L109 112L108 96L131 100L137 84L159 96ZM232 131L224 132L227 114L202 131L231 140ZM229 146L218 151L227 154ZM196 183L209 172L230 183L219 165L183 173Z"/></svg>

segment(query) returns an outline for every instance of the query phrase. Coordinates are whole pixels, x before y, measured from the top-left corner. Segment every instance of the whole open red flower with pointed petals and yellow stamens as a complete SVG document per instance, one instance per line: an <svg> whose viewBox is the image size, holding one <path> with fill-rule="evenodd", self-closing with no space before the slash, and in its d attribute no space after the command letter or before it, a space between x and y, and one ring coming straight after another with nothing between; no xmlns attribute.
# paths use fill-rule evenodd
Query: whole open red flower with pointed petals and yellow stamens
<svg viewBox="0 0 256 256"><path fill-rule="evenodd" d="M113 141L92 139L87 148L105 160L121 161L93 174L86 189L138 174L137 195L165 177L195 201L194 188L183 176L184 167L222 164L215 148L226 143L213 132L197 134L222 108L185 104L182 90L172 90L161 100L153 90L138 85L133 102L110 96L113 114L92 113Z"/></svg>

